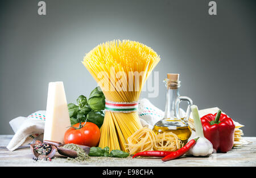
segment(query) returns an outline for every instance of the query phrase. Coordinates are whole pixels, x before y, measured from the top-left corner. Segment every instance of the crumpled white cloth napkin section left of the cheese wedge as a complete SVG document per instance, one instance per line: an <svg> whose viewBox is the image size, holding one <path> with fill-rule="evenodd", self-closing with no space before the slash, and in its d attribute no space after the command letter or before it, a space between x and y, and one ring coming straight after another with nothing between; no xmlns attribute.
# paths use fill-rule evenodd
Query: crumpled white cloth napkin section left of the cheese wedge
<svg viewBox="0 0 256 178"><path fill-rule="evenodd" d="M27 145L35 140L43 140L44 121L46 111L36 111L28 117L16 117L9 123L15 132L14 137L7 145L7 149L14 151L19 146Z"/></svg>

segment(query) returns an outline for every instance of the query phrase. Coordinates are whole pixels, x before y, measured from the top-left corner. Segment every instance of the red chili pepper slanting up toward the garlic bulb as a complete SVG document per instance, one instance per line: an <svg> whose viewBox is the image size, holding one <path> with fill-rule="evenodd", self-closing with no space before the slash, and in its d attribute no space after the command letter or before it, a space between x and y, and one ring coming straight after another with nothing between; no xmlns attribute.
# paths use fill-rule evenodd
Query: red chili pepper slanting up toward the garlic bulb
<svg viewBox="0 0 256 178"><path fill-rule="evenodd" d="M167 155L166 157L164 157L162 159L162 161L166 162L167 160L172 160L172 159L175 159L175 158L179 158L180 156L184 155L189 149L191 149L192 146L194 146L196 144L197 139L199 139L199 137L197 137L195 139L192 139L185 146L183 146L181 149L172 152L170 155Z"/></svg>

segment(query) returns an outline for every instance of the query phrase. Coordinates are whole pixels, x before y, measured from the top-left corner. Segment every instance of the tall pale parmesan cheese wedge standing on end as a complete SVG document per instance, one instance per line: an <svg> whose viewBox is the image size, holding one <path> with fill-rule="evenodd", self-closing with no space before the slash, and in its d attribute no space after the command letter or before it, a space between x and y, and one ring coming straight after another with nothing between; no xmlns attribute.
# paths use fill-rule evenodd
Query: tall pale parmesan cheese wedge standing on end
<svg viewBox="0 0 256 178"><path fill-rule="evenodd" d="M50 82L46 107L44 140L64 143L64 134L71 126L63 82Z"/></svg>

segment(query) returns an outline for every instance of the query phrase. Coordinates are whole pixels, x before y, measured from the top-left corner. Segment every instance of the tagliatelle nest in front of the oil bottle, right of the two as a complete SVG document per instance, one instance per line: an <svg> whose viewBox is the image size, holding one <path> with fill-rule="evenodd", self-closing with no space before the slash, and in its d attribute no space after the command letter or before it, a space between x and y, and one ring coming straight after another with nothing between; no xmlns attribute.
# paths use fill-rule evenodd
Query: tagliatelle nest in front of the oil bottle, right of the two
<svg viewBox="0 0 256 178"><path fill-rule="evenodd" d="M181 140L172 132L157 134L156 141L154 150L158 151L176 151L183 146Z"/></svg>

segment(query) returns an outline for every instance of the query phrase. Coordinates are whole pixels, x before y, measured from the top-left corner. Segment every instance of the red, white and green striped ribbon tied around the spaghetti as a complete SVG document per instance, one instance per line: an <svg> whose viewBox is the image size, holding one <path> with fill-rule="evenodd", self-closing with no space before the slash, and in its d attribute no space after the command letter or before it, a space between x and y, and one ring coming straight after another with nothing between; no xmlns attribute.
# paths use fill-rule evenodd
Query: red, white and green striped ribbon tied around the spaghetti
<svg viewBox="0 0 256 178"><path fill-rule="evenodd" d="M133 102L114 102L105 100L106 111L112 112L135 112L138 110L138 101Z"/></svg>

